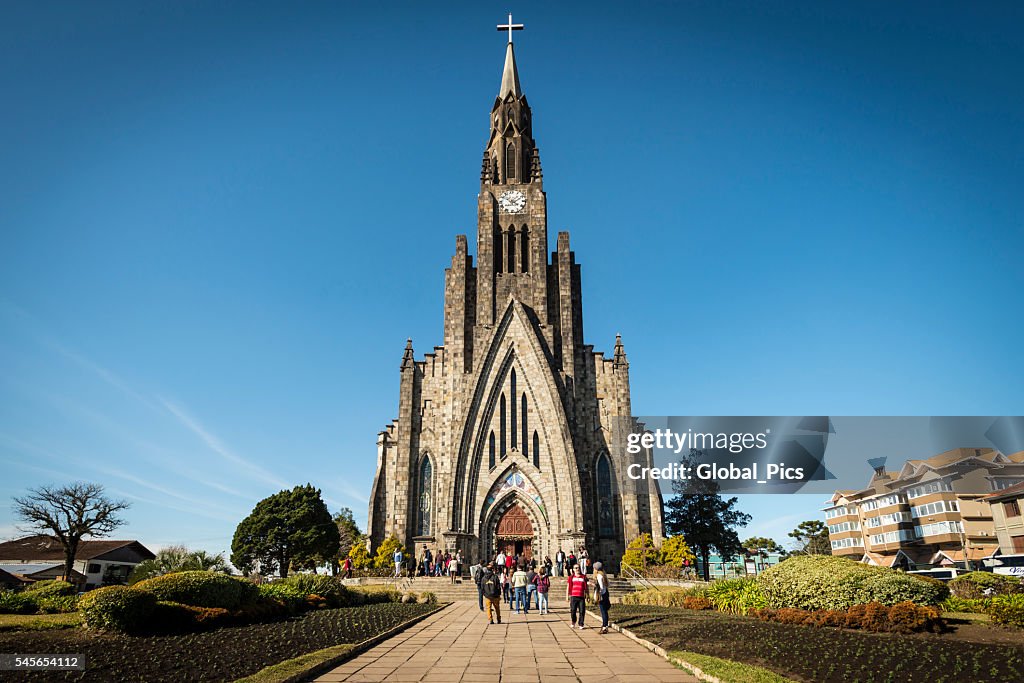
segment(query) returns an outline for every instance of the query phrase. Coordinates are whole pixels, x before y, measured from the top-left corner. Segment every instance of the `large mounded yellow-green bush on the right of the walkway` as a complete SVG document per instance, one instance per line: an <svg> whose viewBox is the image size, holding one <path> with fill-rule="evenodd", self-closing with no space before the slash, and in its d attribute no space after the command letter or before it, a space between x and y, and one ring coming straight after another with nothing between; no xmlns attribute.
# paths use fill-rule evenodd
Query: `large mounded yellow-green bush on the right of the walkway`
<svg viewBox="0 0 1024 683"><path fill-rule="evenodd" d="M828 555L791 557L759 574L757 583L773 608L846 609L905 601L933 605L946 595L945 587L932 582Z"/></svg>

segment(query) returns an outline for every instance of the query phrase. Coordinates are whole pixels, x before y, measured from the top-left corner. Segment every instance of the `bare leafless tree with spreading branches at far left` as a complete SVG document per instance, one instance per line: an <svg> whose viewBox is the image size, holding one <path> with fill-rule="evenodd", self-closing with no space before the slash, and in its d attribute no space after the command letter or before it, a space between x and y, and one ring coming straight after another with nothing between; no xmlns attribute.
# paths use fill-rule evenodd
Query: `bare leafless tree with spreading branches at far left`
<svg viewBox="0 0 1024 683"><path fill-rule="evenodd" d="M25 522L25 530L52 533L63 546L66 581L71 581L83 536L106 536L125 523L117 513L130 505L112 501L104 493L98 483L77 482L30 488L28 496L14 499L14 514Z"/></svg>

